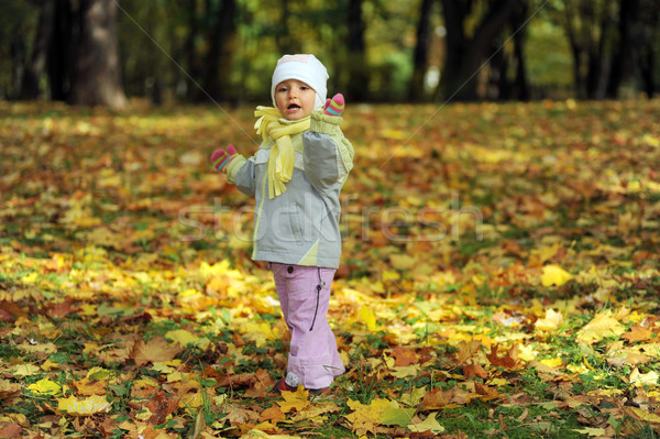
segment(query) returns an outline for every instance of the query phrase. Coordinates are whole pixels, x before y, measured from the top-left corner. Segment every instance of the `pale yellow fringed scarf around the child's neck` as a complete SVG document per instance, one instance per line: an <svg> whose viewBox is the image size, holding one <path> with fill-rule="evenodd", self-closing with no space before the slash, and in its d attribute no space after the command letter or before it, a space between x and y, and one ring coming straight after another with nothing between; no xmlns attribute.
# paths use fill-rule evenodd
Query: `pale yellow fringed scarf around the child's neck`
<svg viewBox="0 0 660 439"><path fill-rule="evenodd" d="M294 175L295 151L292 135L309 130L309 117L296 122L286 123L286 119L276 108L256 107L254 116L258 120L254 124L256 133L261 134L264 142L270 139L275 141L275 146L268 155L268 196L275 198L285 190L285 183ZM284 123L283 123L284 122Z"/></svg>

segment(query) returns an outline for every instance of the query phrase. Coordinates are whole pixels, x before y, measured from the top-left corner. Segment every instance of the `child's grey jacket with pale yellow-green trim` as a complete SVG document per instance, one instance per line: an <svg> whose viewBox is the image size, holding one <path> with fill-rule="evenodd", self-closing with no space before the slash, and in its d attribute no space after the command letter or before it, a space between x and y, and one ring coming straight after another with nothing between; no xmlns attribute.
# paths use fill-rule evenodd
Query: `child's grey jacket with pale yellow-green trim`
<svg viewBox="0 0 660 439"><path fill-rule="evenodd" d="M353 167L353 146L340 117L312 112L310 129L292 135L295 166L286 190L268 197L267 162L274 142L228 166L229 183L256 198L255 261L337 268L341 255L339 194Z"/></svg>

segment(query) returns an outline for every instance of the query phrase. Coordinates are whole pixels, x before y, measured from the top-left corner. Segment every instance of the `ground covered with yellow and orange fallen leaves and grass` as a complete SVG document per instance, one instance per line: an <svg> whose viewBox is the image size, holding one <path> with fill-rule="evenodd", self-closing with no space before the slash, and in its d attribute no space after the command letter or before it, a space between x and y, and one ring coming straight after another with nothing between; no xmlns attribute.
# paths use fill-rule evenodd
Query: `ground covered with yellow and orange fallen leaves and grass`
<svg viewBox="0 0 660 439"><path fill-rule="evenodd" d="M0 112L0 437L660 429L658 100L350 108L330 396L270 393L254 202L207 162L250 109Z"/></svg>

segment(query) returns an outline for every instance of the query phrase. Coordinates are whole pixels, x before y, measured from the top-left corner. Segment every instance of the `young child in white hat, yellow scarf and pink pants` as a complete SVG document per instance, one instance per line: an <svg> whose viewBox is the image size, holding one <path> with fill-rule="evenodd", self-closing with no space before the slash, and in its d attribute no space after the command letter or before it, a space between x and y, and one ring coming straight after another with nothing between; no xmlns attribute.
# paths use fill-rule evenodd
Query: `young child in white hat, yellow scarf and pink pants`
<svg viewBox="0 0 660 439"><path fill-rule="evenodd" d="M268 262L292 333L288 367L275 391L328 392L344 372L327 320L339 266L339 194L353 167L353 146L339 125L343 97L326 100L328 73L314 55L285 55L273 73L275 108L257 107L263 136L249 160L233 145L213 166L256 198L254 261Z"/></svg>

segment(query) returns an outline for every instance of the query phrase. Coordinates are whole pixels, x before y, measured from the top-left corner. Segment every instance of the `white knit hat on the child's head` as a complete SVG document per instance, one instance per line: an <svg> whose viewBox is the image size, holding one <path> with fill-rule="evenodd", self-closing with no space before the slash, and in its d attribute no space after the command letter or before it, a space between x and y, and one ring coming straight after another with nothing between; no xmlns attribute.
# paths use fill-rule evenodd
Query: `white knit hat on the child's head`
<svg viewBox="0 0 660 439"><path fill-rule="evenodd" d="M328 88L328 70L323 64L314 55L284 55L277 61L277 67L273 72L273 81L271 84L271 98L273 107L275 102L275 87L283 80L297 79L307 84L316 91L315 110L320 110L326 105Z"/></svg>

